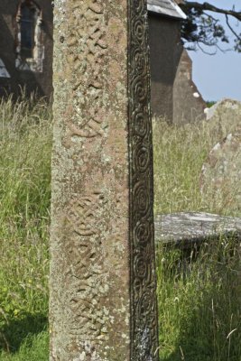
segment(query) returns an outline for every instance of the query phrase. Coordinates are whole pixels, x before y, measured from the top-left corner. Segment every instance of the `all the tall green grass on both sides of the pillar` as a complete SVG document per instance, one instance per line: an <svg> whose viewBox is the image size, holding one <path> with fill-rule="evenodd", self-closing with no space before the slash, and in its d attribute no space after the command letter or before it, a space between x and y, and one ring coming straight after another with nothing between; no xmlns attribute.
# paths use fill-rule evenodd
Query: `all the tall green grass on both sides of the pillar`
<svg viewBox="0 0 241 361"><path fill-rule="evenodd" d="M51 109L2 100L0 127L0 360L47 361ZM160 119L153 128L155 213L234 215L226 194L205 203L199 192L201 165L226 134ZM239 248L222 237L189 273L180 252L157 249L161 360L241 361Z"/></svg>

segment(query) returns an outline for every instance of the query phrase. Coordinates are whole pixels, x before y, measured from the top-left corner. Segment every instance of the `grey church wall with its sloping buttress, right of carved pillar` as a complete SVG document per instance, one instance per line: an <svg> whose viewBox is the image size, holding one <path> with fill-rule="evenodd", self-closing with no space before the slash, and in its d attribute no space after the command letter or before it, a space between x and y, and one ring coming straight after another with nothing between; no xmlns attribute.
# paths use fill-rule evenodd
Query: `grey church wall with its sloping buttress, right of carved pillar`
<svg viewBox="0 0 241 361"><path fill-rule="evenodd" d="M172 124L205 118L206 104L192 81L192 62L181 45L179 19L149 13L153 116Z"/></svg>

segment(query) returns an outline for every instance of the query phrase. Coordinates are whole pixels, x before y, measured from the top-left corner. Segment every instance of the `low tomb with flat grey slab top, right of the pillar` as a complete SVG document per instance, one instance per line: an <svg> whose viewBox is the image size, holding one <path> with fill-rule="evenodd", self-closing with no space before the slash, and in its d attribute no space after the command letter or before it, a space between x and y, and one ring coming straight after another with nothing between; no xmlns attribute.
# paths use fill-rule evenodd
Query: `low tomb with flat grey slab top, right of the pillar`
<svg viewBox="0 0 241 361"><path fill-rule="evenodd" d="M163 262L171 256L171 264L167 264L169 273L172 269L174 274L179 273L186 278L198 259L201 261L204 255L209 255L211 259L219 252L220 245L236 245L240 259L241 218L204 212L157 214L154 226L156 252L162 256L162 261L160 256L158 259Z"/></svg>

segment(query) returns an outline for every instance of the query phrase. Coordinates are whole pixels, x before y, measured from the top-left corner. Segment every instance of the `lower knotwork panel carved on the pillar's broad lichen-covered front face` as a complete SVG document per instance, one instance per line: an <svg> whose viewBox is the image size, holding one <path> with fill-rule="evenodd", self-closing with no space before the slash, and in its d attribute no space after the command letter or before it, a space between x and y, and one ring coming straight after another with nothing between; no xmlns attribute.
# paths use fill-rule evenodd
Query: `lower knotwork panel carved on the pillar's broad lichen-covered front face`
<svg viewBox="0 0 241 361"><path fill-rule="evenodd" d="M71 335L80 340L103 340L107 330L103 324L101 297L105 294L105 274L99 245L97 210L101 192L93 191L70 201L64 211L67 264L65 282L69 284L67 305Z"/></svg>

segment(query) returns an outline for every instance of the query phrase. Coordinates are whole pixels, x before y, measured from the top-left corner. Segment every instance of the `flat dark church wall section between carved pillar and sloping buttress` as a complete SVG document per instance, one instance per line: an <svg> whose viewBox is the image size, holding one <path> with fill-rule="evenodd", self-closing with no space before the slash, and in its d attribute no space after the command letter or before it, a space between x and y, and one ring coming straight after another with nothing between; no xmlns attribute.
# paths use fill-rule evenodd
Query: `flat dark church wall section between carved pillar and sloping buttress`
<svg viewBox="0 0 241 361"><path fill-rule="evenodd" d="M180 21L149 13L153 115L173 118L173 83L181 55Z"/></svg>

